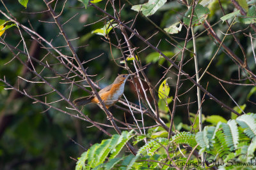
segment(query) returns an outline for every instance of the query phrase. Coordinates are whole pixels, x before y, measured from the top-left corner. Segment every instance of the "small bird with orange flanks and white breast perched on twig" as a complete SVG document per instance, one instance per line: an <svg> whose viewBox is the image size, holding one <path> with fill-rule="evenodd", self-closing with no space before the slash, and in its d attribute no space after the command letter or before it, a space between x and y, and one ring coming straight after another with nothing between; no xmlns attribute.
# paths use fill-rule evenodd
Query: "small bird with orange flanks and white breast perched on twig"
<svg viewBox="0 0 256 170"><path fill-rule="evenodd" d="M120 74L116 77L115 81L111 85L108 85L98 92L106 108L116 104L122 97L122 94L124 93L125 81L127 78L129 78L129 76L130 74ZM74 100L73 103L76 104L76 106L83 106L88 103L99 104L99 100L96 96L86 96Z"/></svg>

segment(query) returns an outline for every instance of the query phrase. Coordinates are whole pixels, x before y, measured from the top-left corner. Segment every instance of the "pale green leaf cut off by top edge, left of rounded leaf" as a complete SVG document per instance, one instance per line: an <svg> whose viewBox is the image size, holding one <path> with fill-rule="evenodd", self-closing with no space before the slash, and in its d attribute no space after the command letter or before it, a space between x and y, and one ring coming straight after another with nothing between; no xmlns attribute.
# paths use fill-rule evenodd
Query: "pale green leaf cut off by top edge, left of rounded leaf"
<svg viewBox="0 0 256 170"><path fill-rule="evenodd" d="M138 12L141 11L143 15L147 17L156 13L156 11L161 8L166 1L167 0L149 0L148 3L134 5L131 9Z"/></svg>

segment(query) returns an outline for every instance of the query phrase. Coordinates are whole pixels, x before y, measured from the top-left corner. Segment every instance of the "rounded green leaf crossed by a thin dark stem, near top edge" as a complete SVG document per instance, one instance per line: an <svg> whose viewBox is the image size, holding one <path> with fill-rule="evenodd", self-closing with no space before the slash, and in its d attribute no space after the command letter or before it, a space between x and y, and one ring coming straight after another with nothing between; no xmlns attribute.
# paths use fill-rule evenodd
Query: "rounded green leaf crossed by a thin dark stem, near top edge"
<svg viewBox="0 0 256 170"><path fill-rule="evenodd" d="M183 22L186 25L189 25L189 23L190 23L192 9L193 9L193 6L190 6L188 11L186 11L185 16L183 17ZM195 6L192 25L202 24L204 22L204 20L207 18L208 13L210 13L210 10L207 7L204 7L201 4L197 4Z"/></svg>

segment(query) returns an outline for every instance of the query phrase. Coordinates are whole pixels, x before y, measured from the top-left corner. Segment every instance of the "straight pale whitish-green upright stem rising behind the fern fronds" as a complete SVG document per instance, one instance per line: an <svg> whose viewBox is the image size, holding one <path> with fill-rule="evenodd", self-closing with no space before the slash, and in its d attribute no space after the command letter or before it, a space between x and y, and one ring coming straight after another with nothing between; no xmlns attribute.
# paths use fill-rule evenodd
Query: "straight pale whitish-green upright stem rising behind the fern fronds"
<svg viewBox="0 0 256 170"><path fill-rule="evenodd" d="M196 83L198 83L198 85L200 85L199 70L198 70L198 59L197 59L197 52L196 52L196 38L195 38L193 27L191 27L191 33L192 33L192 37L193 37ZM201 132L201 131L203 131L203 122L202 122L202 103L201 103L200 88L196 87L196 91L197 91L196 95L197 95L197 104L198 104L199 131ZM205 159L205 155L204 155L204 152L203 152L202 155L201 155L202 168L204 168L204 159Z"/></svg>

